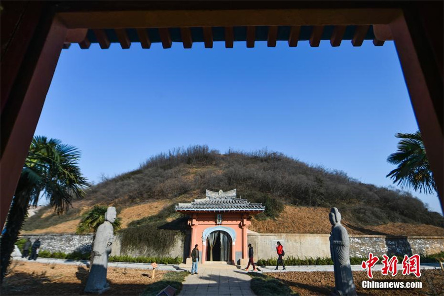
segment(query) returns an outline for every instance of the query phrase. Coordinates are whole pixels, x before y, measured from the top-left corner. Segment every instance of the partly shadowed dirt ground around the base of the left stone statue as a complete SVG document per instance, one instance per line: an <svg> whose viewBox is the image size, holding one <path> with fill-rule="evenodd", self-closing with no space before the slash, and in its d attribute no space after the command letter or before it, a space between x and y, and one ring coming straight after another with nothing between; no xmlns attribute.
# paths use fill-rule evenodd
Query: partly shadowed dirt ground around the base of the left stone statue
<svg viewBox="0 0 444 296"><path fill-rule="evenodd" d="M13 261L12 270L1 286L1 295L84 295L88 269L65 264ZM147 285L162 279L165 271L108 268L111 289L102 295L140 295ZM148 277L149 275L149 277Z"/></svg>

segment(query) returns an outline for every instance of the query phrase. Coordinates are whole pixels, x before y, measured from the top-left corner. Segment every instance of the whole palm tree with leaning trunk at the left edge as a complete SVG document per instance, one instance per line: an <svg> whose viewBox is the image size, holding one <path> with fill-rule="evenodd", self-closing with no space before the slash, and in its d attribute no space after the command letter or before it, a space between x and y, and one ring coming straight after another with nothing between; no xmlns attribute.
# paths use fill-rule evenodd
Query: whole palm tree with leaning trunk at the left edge
<svg viewBox="0 0 444 296"><path fill-rule="evenodd" d="M80 151L74 146L42 136L33 138L0 238L1 282L29 205L37 205L43 194L60 215L68 210L73 199L84 196L83 188L89 183L77 166L79 158Z"/></svg>

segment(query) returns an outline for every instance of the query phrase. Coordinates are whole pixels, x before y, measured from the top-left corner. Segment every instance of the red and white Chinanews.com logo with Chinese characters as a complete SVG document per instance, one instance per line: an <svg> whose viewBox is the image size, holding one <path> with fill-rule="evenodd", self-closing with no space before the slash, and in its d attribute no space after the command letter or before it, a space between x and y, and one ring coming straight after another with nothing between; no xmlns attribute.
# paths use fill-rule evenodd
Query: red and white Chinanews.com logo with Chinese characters
<svg viewBox="0 0 444 296"><path fill-rule="evenodd" d="M395 277L398 274L398 258L396 256L393 256L389 259L387 255L382 255L381 263L383 264L381 269L382 275L389 275L391 274L392 277ZM421 277L421 270L420 270L420 257L419 255L415 254L410 257L407 255L404 255L404 259L402 261L402 271L399 273L402 273L403 275L409 275L413 274L417 278ZM374 265L379 261L379 258L373 256L372 253L369 253L369 259L366 261L362 261L361 267L364 270L367 270L367 276L369 279L373 279L373 271L371 270ZM400 281L393 281L393 280L367 280L362 281L362 288L364 289L421 289L422 288L422 282L420 281L406 281L406 280L400 280Z"/></svg>

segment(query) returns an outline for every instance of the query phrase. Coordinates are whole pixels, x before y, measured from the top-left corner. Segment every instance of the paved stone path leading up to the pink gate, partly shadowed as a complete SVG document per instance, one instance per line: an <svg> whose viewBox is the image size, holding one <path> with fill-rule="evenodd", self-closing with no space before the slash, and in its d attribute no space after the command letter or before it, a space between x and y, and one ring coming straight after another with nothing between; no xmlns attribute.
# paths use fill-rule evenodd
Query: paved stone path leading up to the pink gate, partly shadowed
<svg viewBox="0 0 444 296"><path fill-rule="evenodd" d="M190 274L185 278L181 296L255 295L250 288L250 276L236 266L199 264L198 273L198 275Z"/></svg>

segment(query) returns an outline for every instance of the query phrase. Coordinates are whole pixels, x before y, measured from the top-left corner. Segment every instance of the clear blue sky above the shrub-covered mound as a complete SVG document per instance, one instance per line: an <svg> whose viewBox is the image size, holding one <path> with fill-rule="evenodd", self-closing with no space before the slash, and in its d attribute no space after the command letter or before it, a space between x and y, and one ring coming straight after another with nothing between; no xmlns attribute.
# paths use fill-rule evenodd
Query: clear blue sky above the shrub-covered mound
<svg viewBox="0 0 444 296"><path fill-rule="evenodd" d="M416 129L392 41L191 50L115 43L62 51L36 135L79 148L80 168L96 183L152 154L207 144L221 152L268 148L390 186L394 135ZM413 195L441 212L436 196Z"/></svg>

